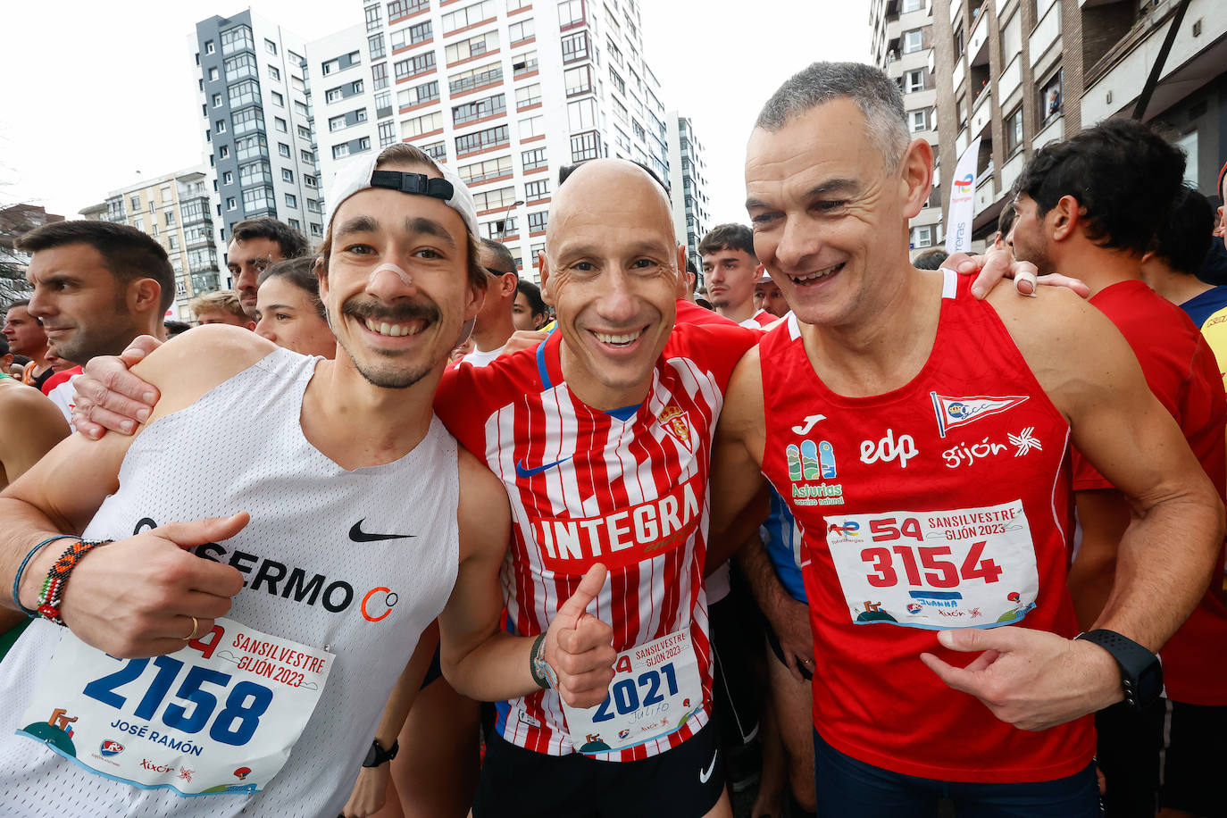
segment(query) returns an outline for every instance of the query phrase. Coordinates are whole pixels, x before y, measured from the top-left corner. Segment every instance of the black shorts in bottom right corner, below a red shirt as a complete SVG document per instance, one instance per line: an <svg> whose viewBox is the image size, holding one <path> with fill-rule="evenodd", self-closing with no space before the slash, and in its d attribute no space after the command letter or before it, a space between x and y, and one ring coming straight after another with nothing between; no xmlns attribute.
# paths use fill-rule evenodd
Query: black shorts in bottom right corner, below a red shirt
<svg viewBox="0 0 1227 818"><path fill-rule="evenodd" d="M1172 701L1158 803L1196 816L1222 816L1227 803L1227 706Z"/></svg>

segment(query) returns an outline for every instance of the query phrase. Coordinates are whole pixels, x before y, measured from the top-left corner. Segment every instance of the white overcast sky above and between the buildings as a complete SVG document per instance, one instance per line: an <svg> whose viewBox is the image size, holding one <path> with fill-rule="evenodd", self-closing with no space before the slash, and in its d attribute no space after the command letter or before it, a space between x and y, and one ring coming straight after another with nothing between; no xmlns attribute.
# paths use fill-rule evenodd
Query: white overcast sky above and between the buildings
<svg viewBox="0 0 1227 818"><path fill-rule="evenodd" d="M540 0L552 4L553 0ZM362 20L362 0L258 0L304 39ZM107 191L201 159L188 36L243 0L26 0L0 26L0 206L76 217ZM307 11L306 9L310 9ZM760 107L814 60L867 60L867 0L639 0L661 102L706 147L714 223L745 221L742 161Z"/></svg>

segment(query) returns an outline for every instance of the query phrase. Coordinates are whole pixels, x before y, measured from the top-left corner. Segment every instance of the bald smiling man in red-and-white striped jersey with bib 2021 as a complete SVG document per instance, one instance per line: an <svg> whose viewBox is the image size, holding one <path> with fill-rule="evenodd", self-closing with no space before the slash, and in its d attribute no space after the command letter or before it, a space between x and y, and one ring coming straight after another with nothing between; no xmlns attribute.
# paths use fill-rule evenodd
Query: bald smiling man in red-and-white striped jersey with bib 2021
<svg viewBox="0 0 1227 818"><path fill-rule="evenodd" d="M618 659L596 708L571 708L552 689L497 705L474 814L589 805L600 814L730 814L714 731L704 730L707 477L733 363L757 335L675 327L683 260L664 190L634 164L579 167L550 228L542 289L558 331L486 368L460 365L436 410L512 498L508 629L545 633L600 562L610 575L588 611L612 625ZM443 638L447 668L445 623ZM556 650L547 638L546 663ZM550 786L524 789L529 778Z"/></svg>

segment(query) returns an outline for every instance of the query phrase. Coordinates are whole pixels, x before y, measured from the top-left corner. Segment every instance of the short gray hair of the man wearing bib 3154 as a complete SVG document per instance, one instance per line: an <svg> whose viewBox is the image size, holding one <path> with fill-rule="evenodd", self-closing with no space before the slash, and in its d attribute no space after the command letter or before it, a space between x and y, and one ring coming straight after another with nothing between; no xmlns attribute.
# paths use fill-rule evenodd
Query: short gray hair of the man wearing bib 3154
<svg viewBox="0 0 1227 818"><path fill-rule="evenodd" d="M869 137L890 167L908 146L903 94L886 74L863 63L814 63L789 77L758 114L756 128L778 131L791 119L822 103L847 97L869 124Z"/></svg>

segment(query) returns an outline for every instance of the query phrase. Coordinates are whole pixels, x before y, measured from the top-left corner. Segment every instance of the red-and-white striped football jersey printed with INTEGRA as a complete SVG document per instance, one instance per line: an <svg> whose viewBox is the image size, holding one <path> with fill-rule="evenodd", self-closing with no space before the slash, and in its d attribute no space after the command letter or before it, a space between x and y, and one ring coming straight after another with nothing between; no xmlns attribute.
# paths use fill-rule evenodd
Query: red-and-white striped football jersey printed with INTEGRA
<svg viewBox="0 0 1227 818"><path fill-rule="evenodd" d="M710 715L703 562L712 435L733 367L757 337L736 326L676 326L647 400L627 412L594 410L571 392L558 332L485 368L461 364L439 385L439 418L510 497L508 630L544 633L596 562L610 574L588 610L614 627L615 650L690 630L702 708L667 736L593 758L655 755L698 732ZM513 744L552 755L575 752L555 690L498 703L497 710L496 727Z"/></svg>

